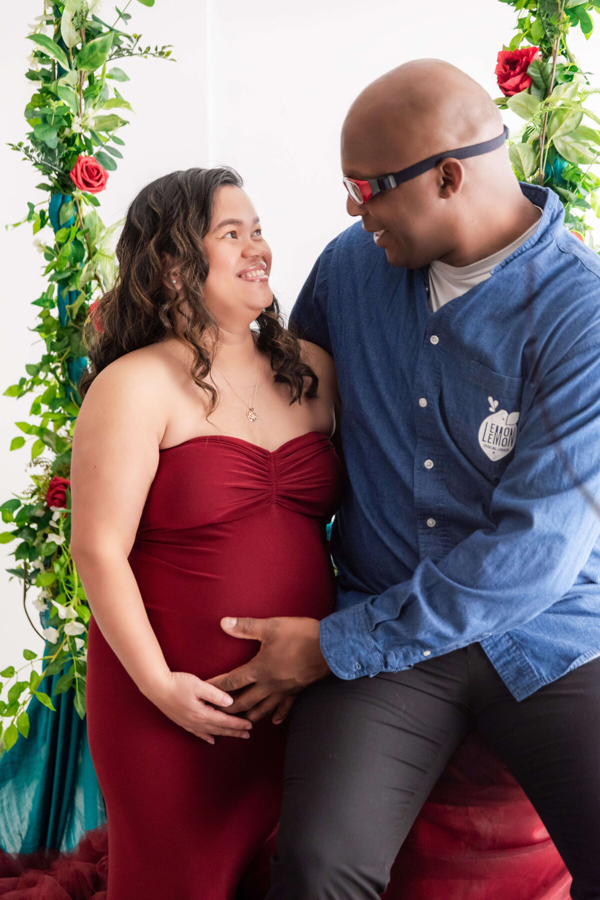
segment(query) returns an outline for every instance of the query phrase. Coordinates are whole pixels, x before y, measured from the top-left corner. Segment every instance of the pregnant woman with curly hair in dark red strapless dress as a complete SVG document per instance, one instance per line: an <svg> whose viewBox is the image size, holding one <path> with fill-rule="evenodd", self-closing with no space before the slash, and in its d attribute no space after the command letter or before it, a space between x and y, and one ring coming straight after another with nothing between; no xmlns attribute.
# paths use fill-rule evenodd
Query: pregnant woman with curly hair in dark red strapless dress
<svg viewBox="0 0 600 900"><path fill-rule="evenodd" d="M282 327L241 184L193 168L140 191L88 336L71 548L92 610L107 900L235 895L278 821L289 706L255 724L228 715L207 680L257 644L220 619L334 605L335 375Z"/></svg>

